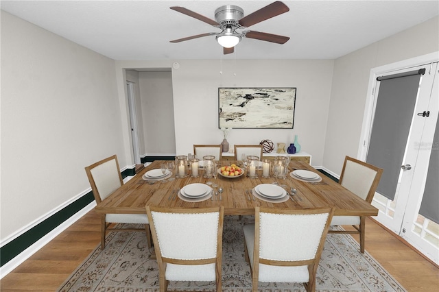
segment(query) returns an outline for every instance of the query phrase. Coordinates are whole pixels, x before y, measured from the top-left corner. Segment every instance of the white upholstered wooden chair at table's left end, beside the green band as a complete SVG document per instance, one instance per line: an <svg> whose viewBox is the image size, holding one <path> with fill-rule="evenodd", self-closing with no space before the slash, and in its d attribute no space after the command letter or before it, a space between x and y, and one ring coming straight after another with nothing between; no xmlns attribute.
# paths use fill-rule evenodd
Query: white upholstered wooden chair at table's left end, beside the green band
<svg viewBox="0 0 439 292"><path fill-rule="evenodd" d="M113 155L85 168L96 204L111 195L123 185L117 156ZM109 228L111 223L140 223L144 228ZM144 231L148 247L152 246L150 225L146 214L102 214L101 215L101 248L105 247L107 231Z"/></svg>

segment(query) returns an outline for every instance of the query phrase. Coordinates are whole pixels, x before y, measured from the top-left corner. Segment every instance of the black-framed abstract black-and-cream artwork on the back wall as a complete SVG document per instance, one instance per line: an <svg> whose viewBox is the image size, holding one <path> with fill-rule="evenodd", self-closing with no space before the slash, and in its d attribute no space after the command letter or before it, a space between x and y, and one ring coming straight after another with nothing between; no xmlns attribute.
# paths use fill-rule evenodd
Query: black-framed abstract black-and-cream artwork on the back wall
<svg viewBox="0 0 439 292"><path fill-rule="evenodd" d="M292 129L296 88L218 88L219 128Z"/></svg>

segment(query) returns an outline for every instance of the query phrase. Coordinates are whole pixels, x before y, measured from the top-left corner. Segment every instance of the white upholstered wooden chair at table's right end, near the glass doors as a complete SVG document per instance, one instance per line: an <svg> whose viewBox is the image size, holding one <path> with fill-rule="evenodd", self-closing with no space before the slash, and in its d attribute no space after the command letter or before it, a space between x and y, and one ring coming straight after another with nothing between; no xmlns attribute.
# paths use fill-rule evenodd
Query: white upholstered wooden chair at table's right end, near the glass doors
<svg viewBox="0 0 439 292"><path fill-rule="evenodd" d="M361 160L346 156L339 184L355 193L366 202L372 202L375 191L383 174L383 169L370 165ZM334 216L332 226L351 225L355 230L329 230L329 233L359 234L360 252L364 254L364 239L366 232L365 216Z"/></svg>

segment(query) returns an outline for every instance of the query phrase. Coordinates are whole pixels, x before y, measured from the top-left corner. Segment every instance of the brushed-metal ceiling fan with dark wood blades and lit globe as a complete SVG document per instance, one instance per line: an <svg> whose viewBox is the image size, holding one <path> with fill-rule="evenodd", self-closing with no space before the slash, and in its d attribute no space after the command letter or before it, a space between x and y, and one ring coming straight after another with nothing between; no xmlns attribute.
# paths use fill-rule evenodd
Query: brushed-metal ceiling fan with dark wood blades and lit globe
<svg viewBox="0 0 439 292"><path fill-rule="evenodd" d="M179 38L178 40L171 40L170 42L183 42L194 38L202 38L203 36L216 36L217 42L224 48L224 54L228 54L233 53L235 45L239 43L241 38L254 38L257 40L265 40L266 42L276 42L277 44L285 44L285 42L289 40L289 37L287 36L278 36L276 34L267 34L265 32L254 32L251 30L237 32L237 29L245 29L246 27L260 23L261 21L288 12L289 8L281 1L273 2L264 8L248 14L247 16L244 16L244 10L239 6L224 5L215 10L215 21L184 7L173 6L170 8L222 30L218 33L208 32L206 34L197 34L196 36Z"/></svg>

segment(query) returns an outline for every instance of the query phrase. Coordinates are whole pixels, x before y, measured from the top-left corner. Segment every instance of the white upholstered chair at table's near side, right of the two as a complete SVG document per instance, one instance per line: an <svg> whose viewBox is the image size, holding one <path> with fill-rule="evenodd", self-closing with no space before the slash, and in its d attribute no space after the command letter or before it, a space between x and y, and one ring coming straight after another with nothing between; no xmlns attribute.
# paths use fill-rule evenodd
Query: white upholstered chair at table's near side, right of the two
<svg viewBox="0 0 439 292"><path fill-rule="evenodd" d="M244 226L252 290L258 282L300 282L316 290L316 271L333 208L305 210L256 207L254 224Z"/></svg>

